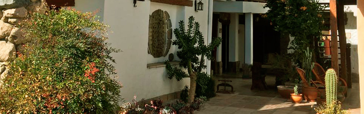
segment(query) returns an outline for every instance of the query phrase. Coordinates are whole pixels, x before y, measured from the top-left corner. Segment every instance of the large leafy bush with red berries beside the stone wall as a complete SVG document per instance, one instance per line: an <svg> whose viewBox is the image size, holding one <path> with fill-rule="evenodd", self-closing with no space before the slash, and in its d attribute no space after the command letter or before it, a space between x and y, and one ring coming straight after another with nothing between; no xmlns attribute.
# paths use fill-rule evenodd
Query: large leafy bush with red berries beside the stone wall
<svg viewBox="0 0 364 114"><path fill-rule="evenodd" d="M48 10L19 26L33 43L10 63L0 87L0 113L111 114L121 99L108 26L93 13ZM32 45L31 45L32 44Z"/></svg>

